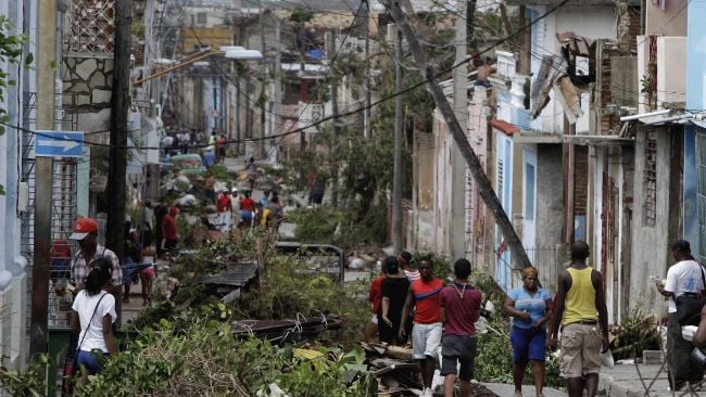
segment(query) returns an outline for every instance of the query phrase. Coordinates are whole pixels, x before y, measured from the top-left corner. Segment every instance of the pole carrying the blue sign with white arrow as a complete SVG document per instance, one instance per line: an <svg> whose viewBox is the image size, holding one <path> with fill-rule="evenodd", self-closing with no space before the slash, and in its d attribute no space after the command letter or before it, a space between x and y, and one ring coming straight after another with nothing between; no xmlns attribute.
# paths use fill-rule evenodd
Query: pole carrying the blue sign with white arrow
<svg viewBox="0 0 706 397"><path fill-rule="evenodd" d="M39 26L43 31L37 42L37 126L54 126L54 69L56 1L39 2ZM35 159L35 252L31 268L31 319L29 324L29 356L47 353L49 307L49 252L51 249L52 157Z"/></svg>

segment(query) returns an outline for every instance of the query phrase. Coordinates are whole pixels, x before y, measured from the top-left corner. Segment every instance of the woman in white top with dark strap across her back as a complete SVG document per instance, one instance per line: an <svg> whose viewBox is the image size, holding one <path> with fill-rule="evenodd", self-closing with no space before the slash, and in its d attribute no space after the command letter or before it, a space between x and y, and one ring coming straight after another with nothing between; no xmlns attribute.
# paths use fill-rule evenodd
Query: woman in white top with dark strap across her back
<svg viewBox="0 0 706 397"><path fill-rule="evenodd" d="M117 353L113 336L115 297L105 290L111 285L112 264L99 258L86 279L86 289L76 295L72 309L71 324L78 335L77 363L81 369L78 384L86 384L88 375L101 371L101 362Z"/></svg>

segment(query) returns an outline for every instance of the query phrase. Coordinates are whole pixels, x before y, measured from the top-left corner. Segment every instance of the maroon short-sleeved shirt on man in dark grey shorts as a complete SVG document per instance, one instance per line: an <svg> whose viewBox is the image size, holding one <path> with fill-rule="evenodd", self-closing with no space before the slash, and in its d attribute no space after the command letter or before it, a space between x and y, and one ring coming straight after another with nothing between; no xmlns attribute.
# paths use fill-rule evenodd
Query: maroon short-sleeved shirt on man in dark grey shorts
<svg viewBox="0 0 706 397"><path fill-rule="evenodd" d="M455 285L455 287L454 287ZM463 298L461 294L463 293ZM474 318L480 310L480 291L466 284L452 284L441 290L441 306L446 310L444 335L475 335Z"/></svg>

